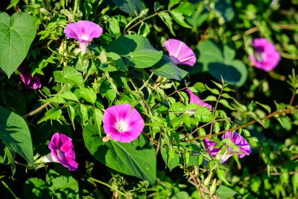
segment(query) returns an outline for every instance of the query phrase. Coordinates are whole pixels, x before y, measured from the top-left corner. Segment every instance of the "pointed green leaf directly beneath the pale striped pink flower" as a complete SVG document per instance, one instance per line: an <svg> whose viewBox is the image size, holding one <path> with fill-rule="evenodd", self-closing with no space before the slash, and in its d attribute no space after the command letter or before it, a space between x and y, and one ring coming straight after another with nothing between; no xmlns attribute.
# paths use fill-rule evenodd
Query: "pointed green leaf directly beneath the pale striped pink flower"
<svg viewBox="0 0 298 199"><path fill-rule="evenodd" d="M161 60L152 66L151 71L155 75L179 81L188 74L188 72L178 68L166 55L163 55Z"/></svg>

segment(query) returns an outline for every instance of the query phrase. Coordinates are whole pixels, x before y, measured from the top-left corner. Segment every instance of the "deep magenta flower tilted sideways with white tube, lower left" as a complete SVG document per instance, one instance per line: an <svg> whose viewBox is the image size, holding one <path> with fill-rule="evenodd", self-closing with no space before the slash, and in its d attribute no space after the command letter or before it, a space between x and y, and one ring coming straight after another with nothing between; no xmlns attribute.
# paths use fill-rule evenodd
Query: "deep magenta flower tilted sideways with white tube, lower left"
<svg viewBox="0 0 298 199"><path fill-rule="evenodd" d="M43 162L58 162L70 171L77 169L78 164L75 162L74 145L72 139L64 134L55 133L49 143L51 153L41 160Z"/></svg>

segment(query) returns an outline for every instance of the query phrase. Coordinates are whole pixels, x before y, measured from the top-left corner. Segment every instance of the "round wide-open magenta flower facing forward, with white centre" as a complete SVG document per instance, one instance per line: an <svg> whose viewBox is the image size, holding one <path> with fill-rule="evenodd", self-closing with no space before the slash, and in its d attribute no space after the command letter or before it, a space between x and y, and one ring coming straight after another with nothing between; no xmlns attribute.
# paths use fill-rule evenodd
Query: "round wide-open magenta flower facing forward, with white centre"
<svg viewBox="0 0 298 199"><path fill-rule="evenodd" d="M131 142L139 137L144 120L131 104L114 105L103 114L103 129L109 137L120 142Z"/></svg>

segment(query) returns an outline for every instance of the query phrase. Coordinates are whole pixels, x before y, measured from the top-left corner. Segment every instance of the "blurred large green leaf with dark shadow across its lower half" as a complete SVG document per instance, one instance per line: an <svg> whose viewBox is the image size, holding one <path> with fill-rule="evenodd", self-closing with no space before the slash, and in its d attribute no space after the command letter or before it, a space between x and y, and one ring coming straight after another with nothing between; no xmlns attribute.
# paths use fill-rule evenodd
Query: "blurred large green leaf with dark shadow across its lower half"
<svg viewBox="0 0 298 199"><path fill-rule="evenodd" d="M209 72L217 80L223 76L226 83L241 87L247 79L247 68L240 60L235 60L235 50L227 45L207 40L197 45L199 56L195 70L190 74L201 71Z"/></svg>

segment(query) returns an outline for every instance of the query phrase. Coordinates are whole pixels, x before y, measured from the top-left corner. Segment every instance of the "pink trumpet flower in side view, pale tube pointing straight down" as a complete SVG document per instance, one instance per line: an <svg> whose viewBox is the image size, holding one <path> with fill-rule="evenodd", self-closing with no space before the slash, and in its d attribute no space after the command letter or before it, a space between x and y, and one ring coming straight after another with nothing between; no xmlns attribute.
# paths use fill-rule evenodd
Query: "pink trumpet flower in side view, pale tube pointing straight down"
<svg viewBox="0 0 298 199"><path fill-rule="evenodd" d="M87 46L93 38L100 37L102 33L102 27L91 21L78 21L68 24L64 33L68 38L74 38L79 42L81 54L85 54Z"/></svg>

